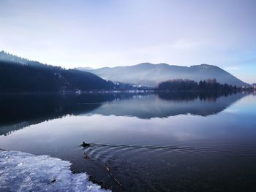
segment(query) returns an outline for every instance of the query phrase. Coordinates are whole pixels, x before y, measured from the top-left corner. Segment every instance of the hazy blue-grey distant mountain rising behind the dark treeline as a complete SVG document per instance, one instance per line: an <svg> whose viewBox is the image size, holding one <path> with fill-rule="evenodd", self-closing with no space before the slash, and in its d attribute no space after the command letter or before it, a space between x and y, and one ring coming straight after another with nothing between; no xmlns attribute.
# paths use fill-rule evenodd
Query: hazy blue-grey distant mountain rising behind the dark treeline
<svg viewBox="0 0 256 192"><path fill-rule="evenodd" d="M208 64L196 66L174 66L168 64L143 63L135 66L103 67L99 69L82 69L99 75L105 80L127 82L136 85L156 86L159 82L173 79L200 80L216 79L219 83L243 86L246 82L238 80L232 74Z"/></svg>

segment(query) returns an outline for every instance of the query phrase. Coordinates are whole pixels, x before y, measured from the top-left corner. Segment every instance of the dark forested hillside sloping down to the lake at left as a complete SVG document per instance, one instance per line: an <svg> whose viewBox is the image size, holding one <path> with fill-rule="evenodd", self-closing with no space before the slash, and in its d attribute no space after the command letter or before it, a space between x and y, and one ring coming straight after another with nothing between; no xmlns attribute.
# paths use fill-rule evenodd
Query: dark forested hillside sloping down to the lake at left
<svg viewBox="0 0 256 192"><path fill-rule="evenodd" d="M0 52L0 92L110 90L113 82L90 72L63 69Z"/></svg>

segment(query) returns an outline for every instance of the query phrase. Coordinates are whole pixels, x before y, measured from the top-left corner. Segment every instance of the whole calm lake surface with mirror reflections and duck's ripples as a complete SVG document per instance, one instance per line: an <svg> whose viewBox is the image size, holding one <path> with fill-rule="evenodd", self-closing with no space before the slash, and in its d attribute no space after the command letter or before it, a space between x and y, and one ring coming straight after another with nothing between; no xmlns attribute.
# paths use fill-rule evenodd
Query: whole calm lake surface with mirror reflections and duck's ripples
<svg viewBox="0 0 256 192"><path fill-rule="evenodd" d="M71 161L113 191L256 191L256 95L1 95L0 147Z"/></svg>

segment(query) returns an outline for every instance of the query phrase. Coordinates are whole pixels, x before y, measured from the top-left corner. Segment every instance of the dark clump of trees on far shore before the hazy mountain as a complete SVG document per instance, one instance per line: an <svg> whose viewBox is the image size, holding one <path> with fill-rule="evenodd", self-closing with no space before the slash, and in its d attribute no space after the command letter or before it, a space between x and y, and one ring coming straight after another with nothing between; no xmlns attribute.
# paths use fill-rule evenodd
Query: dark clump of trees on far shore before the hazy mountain
<svg viewBox="0 0 256 192"><path fill-rule="evenodd" d="M231 91L236 90L236 85L220 84L217 80L167 80L157 85L158 91Z"/></svg>

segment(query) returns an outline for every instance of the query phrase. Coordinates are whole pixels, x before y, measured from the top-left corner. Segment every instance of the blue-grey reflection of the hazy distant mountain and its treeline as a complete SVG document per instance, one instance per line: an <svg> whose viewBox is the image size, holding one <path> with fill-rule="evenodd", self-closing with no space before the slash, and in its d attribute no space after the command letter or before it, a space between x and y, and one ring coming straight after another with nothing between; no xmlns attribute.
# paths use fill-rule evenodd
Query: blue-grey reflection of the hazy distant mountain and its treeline
<svg viewBox="0 0 256 192"><path fill-rule="evenodd" d="M201 99L200 100L200 94ZM230 93L231 94L231 93ZM143 119L168 118L175 115L214 115L225 110L245 94L230 96L226 93L157 92L156 95L138 96L102 104L94 114L131 116ZM221 97L222 96L222 97ZM158 99L156 99L156 97Z"/></svg>

